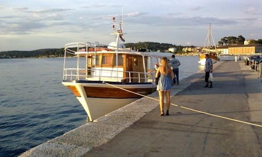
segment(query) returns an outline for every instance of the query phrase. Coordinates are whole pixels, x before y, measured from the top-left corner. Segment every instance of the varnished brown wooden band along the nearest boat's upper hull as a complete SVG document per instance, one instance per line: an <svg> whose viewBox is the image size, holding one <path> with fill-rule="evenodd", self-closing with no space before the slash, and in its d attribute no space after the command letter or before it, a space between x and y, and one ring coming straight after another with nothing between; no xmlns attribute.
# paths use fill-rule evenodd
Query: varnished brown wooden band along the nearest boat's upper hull
<svg viewBox="0 0 262 157"><path fill-rule="evenodd" d="M75 86L66 86L71 92L75 95L80 97L80 93ZM105 88L105 87L92 87L92 86L84 86L84 91L87 97L95 97L95 98L141 98L142 96L133 94L118 88ZM156 91L156 87L152 88L129 88L129 91L148 95Z"/></svg>

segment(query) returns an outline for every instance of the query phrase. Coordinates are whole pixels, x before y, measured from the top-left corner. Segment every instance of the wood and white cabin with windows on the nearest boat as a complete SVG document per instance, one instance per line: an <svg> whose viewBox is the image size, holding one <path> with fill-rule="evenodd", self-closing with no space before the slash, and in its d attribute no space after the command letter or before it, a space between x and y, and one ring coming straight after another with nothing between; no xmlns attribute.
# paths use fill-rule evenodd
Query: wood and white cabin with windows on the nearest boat
<svg viewBox="0 0 262 157"><path fill-rule="evenodd" d="M152 77L148 73L151 71L148 69L148 56L105 49L91 52L79 50L76 54L77 67L65 68L64 80L147 82L147 78Z"/></svg>

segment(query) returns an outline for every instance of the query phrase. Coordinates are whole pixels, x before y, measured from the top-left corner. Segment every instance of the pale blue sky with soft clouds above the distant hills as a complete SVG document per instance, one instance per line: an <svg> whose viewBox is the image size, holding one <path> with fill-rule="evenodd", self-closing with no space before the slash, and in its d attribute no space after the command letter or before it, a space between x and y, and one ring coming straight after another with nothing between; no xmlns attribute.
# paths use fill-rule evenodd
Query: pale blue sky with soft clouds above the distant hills
<svg viewBox="0 0 262 157"><path fill-rule="evenodd" d="M200 47L210 23L215 44L227 36L257 40L261 8L262 0L0 0L0 51L109 44L122 9L125 43Z"/></svg>

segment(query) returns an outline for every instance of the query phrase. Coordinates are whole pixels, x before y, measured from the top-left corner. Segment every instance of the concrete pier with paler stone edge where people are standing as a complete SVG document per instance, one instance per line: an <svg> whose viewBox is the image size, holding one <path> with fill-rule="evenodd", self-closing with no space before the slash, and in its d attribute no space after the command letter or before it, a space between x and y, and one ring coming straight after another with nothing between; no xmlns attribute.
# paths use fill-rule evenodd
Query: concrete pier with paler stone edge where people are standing
<svg viewBox="0 0 262 157"><path fill-rule="evenodd" d="M226 61L214 64L213 76L213 88L203 88L203 70L180 80L171 103L262 125L258 73L243 61ZM157 92L149 96L158 99ZM139 99L21 157L262 157L262 127L172 105L163 117L158 104Z"/></svg>

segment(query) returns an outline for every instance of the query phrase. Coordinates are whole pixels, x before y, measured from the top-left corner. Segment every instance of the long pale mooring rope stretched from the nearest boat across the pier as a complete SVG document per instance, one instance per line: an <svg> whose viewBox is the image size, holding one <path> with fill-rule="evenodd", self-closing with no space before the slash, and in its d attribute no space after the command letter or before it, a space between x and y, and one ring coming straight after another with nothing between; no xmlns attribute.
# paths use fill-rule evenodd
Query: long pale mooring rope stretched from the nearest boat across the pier
<svg viewBox="0 0 262 157"><path fill-rule="evenodd" d="M140 95L140 96L143 96L143 97L147 97L147 98L149 98L149 99L153 99L153 100L156 100L156 101L160 101L159 99L156 99L156 98L153 98L153 97L150 97L150 96L147 96L147 95L143 95L143 94L138 94L138 93L135 93L135 92L126 90L126 89L124 89L124 88L117 87L117 86L115 86L115 85L113 85L113 84L109 84L109 83L106 83L106 82L103 82L103 83L105 83L105 84L107 84L107 85L110 85L110 86L113 86L113 87L115 87L115 88L119 88L119 89L121 89L121 90L130 92L130 93L133 93L133 94L137 94L137 95ZM199 113L203 113L203 114L207 114L207 115L211 115L211 116L215 116L215 117L219 117L219 118L223 118L223 119L235 121L235 122L240 122L240 123L245 123L245 124L249 124L249 125L252 125L252 126L262 127L261 125L257 125L257 124L253 124L253 123L249 123L249 122L244 122L244 121L239 121L239 120L236 120L236 119L232 119L232 118L228 118L228 117L223 117L223 116L215 115L215 114L203 112L203 111L200 111L200 110L194 110L194 109L186 108L186 107L179 106L179 105L172 104L172 103L170 103L170 105L173 105L173 106L176 106L176 107L180 107L180 108L186 109L186 110L192 110L192 111L196 111L196 112L199 112Z"/></svg>

